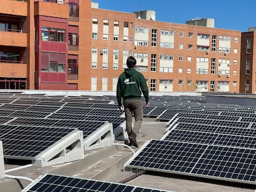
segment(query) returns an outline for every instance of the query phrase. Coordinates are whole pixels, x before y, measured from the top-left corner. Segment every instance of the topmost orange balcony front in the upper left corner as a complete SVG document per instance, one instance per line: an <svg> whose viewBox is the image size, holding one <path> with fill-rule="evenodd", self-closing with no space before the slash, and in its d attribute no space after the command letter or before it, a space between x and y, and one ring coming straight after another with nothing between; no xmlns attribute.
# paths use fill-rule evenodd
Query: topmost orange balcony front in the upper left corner
<svg viewBox="0 0 256 192"><path fill-rule="evenodd" d="M27 17L26 1L6 1L0 0L1 14L20 15Z"/></svg>

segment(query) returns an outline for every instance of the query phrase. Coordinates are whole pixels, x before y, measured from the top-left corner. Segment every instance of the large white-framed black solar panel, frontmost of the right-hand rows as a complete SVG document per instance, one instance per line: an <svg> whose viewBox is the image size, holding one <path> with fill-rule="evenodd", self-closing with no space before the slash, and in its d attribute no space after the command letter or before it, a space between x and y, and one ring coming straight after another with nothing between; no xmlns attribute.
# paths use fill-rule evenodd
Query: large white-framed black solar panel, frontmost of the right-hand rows
<svg viewBox="0 0 256 192"><path fill-rule="evenodd" d="M151 140L127 167L232 182L256 182L256 149Z"/></svg>

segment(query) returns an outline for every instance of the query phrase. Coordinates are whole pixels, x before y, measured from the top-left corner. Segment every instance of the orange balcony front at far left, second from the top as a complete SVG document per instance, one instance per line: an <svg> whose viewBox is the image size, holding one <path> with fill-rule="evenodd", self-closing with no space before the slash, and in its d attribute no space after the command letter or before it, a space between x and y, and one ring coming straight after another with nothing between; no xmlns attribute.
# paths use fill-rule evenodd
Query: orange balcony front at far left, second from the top
<svg viewBox="0 0 256 192"><path fill-rule="evenodd" d="M27 33L20 30L1 31L0 42L2 46L27 47Z"/></svg>

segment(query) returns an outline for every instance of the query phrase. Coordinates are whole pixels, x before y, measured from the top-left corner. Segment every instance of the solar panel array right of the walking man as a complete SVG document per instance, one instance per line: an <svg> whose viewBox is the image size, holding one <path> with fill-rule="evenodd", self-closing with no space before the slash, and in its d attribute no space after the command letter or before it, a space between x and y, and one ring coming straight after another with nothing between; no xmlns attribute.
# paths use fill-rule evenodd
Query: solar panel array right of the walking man
<svg viewBox="0 0 256 192"><path fill-rule="evenodd" d="M156 120L167 122L166 133L145 143L125 169L256 185L256 107L185 100L161 104L167 109Z"/></svg>

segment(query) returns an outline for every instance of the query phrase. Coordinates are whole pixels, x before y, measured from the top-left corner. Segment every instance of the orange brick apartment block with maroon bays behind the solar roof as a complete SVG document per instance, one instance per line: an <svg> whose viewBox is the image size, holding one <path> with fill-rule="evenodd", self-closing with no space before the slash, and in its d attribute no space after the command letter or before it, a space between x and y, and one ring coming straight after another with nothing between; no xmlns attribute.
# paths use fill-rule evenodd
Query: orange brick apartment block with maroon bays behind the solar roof
<svg viewBox="0 0 256 192"><path fill-rule="evenodd" d="M150 91L256 93L254 31L161 22L153 10L91 0L0 2L0 89L115 91L134 56Z"/></svg>

